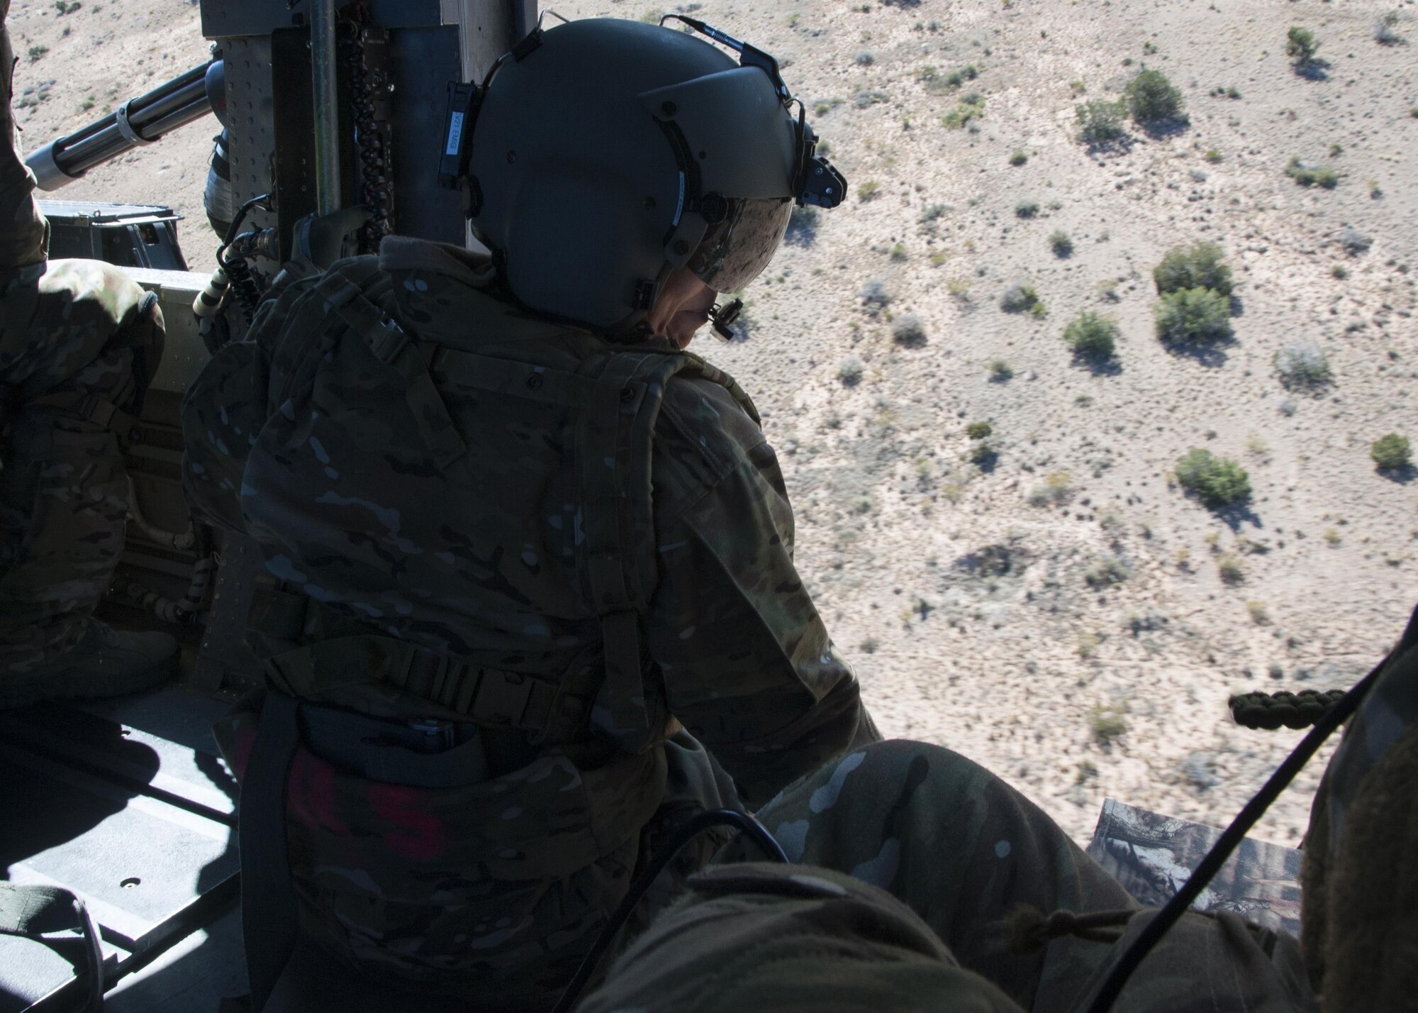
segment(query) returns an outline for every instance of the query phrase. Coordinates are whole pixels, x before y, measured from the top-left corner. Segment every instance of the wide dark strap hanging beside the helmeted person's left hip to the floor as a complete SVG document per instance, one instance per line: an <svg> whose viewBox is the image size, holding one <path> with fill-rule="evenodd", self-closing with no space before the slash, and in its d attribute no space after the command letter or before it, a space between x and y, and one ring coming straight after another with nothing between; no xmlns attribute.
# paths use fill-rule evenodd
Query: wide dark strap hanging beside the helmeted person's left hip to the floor
<svg viewBox="0 0 1418 1013"><path fill-rule="evenodd" d="M259 1013L295 949L295 887L285 841L285 785L301 743L301 704L268 690L241 779L241 936L251 1007Z"/></svg>

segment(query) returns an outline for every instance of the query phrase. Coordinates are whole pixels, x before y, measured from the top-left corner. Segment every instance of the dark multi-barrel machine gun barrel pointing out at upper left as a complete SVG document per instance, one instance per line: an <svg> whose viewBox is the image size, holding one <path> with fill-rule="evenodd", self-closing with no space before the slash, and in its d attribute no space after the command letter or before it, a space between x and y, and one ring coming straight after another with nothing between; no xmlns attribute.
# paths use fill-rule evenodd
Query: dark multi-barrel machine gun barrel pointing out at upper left
<svg viewBox="0 0 1418 1013"><path fill-rule="evenodd" d="M126 150L157 140L211 112L207 71L211 62L193 67L146 95L123 102L102 119L35 149L26 159L41 190L58 190L96 165Z"/></svg>

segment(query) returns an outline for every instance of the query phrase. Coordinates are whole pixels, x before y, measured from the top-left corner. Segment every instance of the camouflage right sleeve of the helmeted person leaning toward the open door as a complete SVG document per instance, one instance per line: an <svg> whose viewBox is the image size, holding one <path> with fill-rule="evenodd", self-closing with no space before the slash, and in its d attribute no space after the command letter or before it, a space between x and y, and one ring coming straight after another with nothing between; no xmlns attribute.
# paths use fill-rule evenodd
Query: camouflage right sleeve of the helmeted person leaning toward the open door
<svg viewBox="0 0 1418 1013"><path fill-rule="evenodd" d="M783 472L753 420L719 384L672 382L652 468L649 650L671 711L757 806L878 736L793 565Z"/></svg>

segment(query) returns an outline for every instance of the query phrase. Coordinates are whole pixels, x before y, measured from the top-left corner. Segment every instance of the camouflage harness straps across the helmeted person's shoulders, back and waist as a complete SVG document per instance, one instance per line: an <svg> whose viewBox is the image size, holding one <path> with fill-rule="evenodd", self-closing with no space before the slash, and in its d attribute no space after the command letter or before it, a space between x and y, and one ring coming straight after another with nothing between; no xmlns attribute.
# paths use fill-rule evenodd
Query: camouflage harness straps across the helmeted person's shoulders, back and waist
<svg viewBox="0 0 1418 1013"><path fill-rule="evenodd" d="M308 291L291 304L285 339L272 360L267 404L275 410L251 451L248 472L262 454L289 443L286 431L302 419L322 375L359 377L366 403L401 402L441 470L462 458L465 440L478 434L458 431L440 389L570 409L577 417L573 460L583 535L577 569L600 617L603 660L577 664L554 682L471 667L380 634L373 624L332 619L309 594L278 590L258 596L251 623L271 648L289 644L269 653L277 684L295 697L320 699L329 685L347 684L360 671L370 682L423 701L417 716L512 726L536 741L567 743L584 734L587 707L604 682L614 738L628 751L644 749L654 732L638 617L657 580L649 474L655 420L675 376L725 386L757 419L749 397L698 356L659 343L617 346L596 339L596 350L571 370L421 341L376 305L393 282L374 257L343 261L303 284ZM318 438L322 426L339 424L340 419L318 420L301 430L301 438ZM370 709L379 714L383 707Z"/></svg>

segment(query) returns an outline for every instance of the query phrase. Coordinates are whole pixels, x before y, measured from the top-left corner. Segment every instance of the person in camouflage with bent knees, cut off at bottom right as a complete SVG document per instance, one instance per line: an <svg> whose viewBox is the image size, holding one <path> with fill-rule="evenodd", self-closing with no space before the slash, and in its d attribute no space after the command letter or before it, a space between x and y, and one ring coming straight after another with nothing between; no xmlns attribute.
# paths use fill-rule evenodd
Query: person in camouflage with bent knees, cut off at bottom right
<svg viewBox="0 0 1418 1013"><path fill-rule="evenodd" d="M1188 912L1112 1009L1418 1009L1415 797L1418 613L1316 795L1303 948L1235 912ZM937 746L854 751L759 819L794 864L726 847L580 1013L1078 1013L1156 914L1021 795Z"/></svg>

